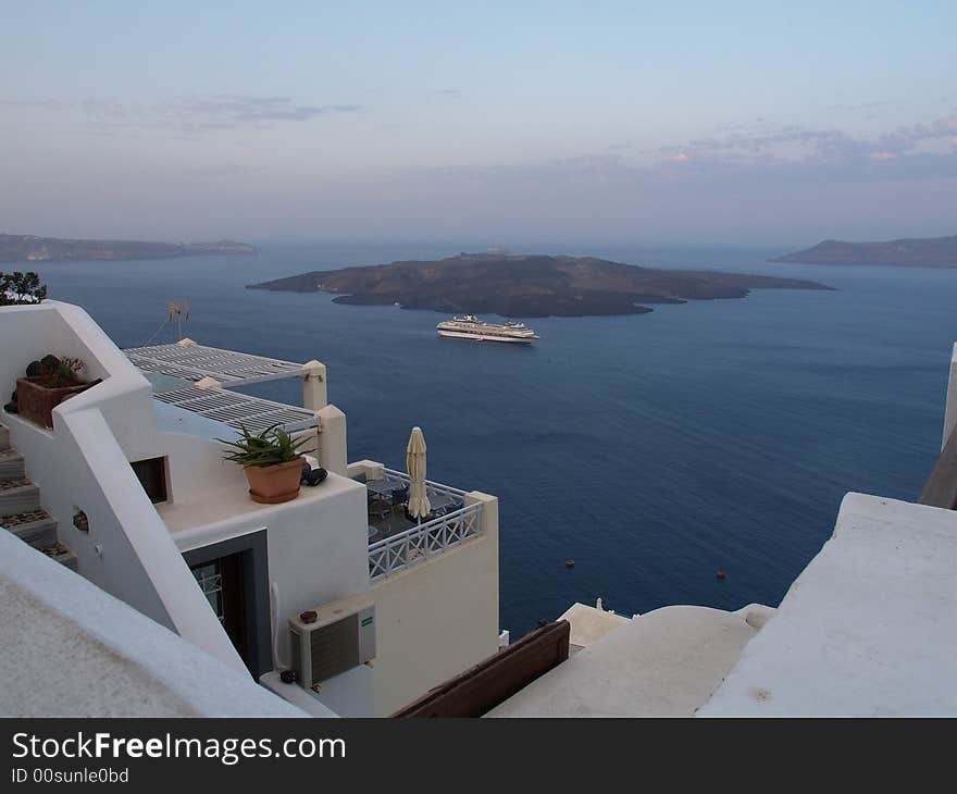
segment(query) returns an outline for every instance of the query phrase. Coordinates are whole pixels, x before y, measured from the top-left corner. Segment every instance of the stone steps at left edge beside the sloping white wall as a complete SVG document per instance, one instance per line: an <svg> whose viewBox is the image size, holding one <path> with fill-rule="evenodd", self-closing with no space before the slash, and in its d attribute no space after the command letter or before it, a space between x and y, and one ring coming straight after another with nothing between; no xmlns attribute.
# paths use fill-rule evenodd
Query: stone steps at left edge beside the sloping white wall
<svg viewBox="0 0 957 794"><path fill-rule="evenodd" d="M57 520L40 507L40 489L24 475L23 456L10 447L10 431L0 424L0 528L76 570L76 555L60 543Z"/></svg>

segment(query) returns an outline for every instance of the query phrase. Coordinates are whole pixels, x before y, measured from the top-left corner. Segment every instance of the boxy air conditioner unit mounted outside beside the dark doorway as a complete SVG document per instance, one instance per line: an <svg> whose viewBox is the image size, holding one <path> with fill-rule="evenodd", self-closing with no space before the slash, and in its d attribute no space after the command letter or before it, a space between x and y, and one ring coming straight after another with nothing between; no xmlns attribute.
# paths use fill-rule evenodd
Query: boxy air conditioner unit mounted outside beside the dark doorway
<svg viewBox="0 0 957 794"><path fill-rule="evenodd" d="M293 669L302 686L328 681L375 658L375 603L358 595L315 607L316 619L289 620Z"/></svg>

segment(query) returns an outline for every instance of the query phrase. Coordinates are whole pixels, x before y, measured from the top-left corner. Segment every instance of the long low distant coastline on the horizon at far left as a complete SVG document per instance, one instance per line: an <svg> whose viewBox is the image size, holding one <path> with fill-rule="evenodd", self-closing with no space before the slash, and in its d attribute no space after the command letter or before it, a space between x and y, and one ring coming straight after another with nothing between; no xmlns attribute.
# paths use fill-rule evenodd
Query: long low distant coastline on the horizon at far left
<svg viewBox="0 0 957 794"><path fill-rule="evenodd" d="M148 243L0 234L0 263L123 261L257 253L254 246L234 240L216 243Z"/></svg>

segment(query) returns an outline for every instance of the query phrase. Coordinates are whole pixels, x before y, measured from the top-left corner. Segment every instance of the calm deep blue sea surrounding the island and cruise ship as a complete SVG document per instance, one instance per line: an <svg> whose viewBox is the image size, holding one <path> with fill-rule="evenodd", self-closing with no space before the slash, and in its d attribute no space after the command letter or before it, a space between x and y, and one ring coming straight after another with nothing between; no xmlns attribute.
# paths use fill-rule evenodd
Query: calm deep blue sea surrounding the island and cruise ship
<svg viewBox="0 0 957 794"><path fill-rule="evenodd" d="M915 498L933 466L957 338L954 271L767 264L780 251L755 249L527 246L840 289L535 320L542 340L530 349L439 339L432 312L244 289L460 248L268 247L40 272L50 297L83 305L121 347L145 344L166 299L188 296L198 342L325 362L350 459L402 468L421 425L431 479L501 499L501 625L513 636L596 596L624 613L775 605L847 491ZM167 327L156 342L173 338ZM296 383L259 393L301 397Z"/></svg>

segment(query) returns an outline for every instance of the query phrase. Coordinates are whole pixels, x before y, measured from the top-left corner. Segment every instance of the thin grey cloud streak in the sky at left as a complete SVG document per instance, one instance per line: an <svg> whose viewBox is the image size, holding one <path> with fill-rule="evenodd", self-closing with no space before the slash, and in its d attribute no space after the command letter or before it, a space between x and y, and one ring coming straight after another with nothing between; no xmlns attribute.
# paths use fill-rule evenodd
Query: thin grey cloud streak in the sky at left
<svg viewBox="0 0 957 794"><path fill-rule="evenodd" d="M0 107L21 110L73 111L109 129L175 131L186 134L276 123L308 122L323 115L355 113L359 104L303 104L289 97L238 94L179 97L172 102L142 104L105 99L64 102L54 99L0 100Z"/></svg>

